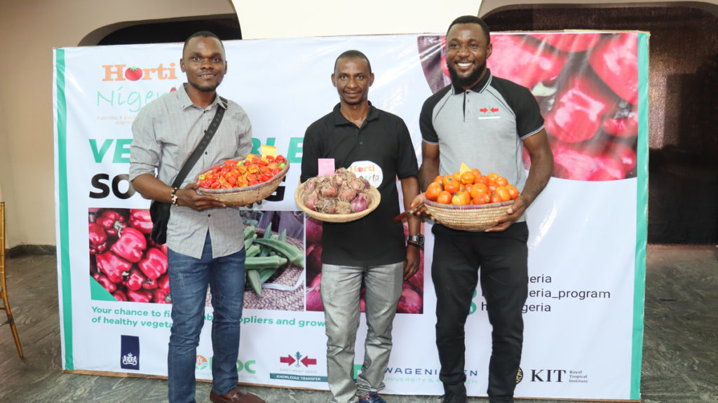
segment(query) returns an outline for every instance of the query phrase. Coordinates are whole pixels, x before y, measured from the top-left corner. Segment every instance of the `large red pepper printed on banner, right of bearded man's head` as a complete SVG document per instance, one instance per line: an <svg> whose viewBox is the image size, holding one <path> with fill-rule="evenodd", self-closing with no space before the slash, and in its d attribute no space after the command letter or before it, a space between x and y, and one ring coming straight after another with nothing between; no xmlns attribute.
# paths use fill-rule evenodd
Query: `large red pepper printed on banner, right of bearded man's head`
<svg viewBox="0 0 718 403"><path fill-rule="evenodd" d="M491 74L516 82L529 90L539 82L551 83L559 77L567 56L528 35L491 36L493 56L486 60Z"/></svg>

